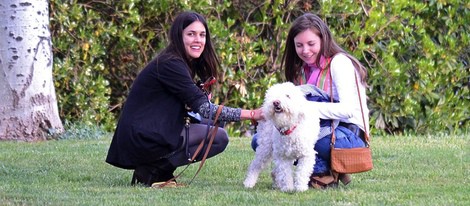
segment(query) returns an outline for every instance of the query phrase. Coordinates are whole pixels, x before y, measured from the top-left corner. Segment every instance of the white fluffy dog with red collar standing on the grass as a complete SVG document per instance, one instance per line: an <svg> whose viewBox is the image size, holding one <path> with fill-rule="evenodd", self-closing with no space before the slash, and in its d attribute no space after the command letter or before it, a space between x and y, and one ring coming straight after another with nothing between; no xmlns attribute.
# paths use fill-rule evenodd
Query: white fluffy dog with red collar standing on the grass
<svg viewBox="0 0 470 206"><path fill-rule="evenodd" d="M308 190L320 129L317 110L310 105L301 89L290 82L268 89L262 106L265 120L258 125L258 147L244 181L246 188L254 187L260 172L274 160L271 176L275 188Z"/></svg>

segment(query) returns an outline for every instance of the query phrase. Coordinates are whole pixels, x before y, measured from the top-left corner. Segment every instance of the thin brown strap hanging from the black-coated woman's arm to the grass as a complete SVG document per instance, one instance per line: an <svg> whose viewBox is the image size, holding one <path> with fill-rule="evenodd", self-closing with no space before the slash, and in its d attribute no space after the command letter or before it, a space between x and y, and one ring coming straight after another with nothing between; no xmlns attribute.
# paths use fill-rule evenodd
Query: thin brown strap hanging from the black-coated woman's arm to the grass
<svg viewBox="0 0 470 206"><path fill-rule="evenodd" d="M206 138L204 138L201 143L199 143L196 151L194 152L193 156L191 157L191 159L189 159L189 164L186 165L186 167L180 172L178 173L178 175L174 176L173 178L167 180L165 183L159 185L158 187L159 188L163 188L165 187L166 185L168 185L170 182L173 182L174 180L176 180L177 178L179 178L184 171L186 171L186 169L188 169L189 165L191 165L197 158L197 156L199 155L199 153L203 150L203 146L204 146L204 143L206 142L207 140L207 137L209 137L209 143L207 144L207 148L205 150L205 153L204 153L204 156L202 157L201 159L201 163L199 164L199 168L197 169L196 173L194 174L194 176L191 178L191 180L189 181L188 185L192 183L192 181L196 178L196 176L199 174L199 172L201 171L202 167L204 166L204 163L206 162L206 159L207 159L207 156L209 154L209 151L212 147L212 143L214 142L214 139L215 139L215 136L217 134L217 131L219 130L219 122L218 122L218 119L219 119L219 116L220 116L220 113L222 112L222 108L223 108L223 105L219 105L219 107L217 108L217 112L215 113L215 118L214 118L214 124L213 124L213 127L212 127L212 130L210 130L208 133L207 133L207 136Z"/></svg>

